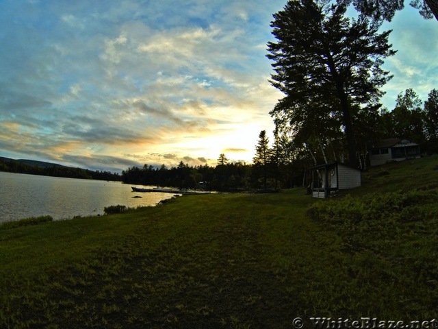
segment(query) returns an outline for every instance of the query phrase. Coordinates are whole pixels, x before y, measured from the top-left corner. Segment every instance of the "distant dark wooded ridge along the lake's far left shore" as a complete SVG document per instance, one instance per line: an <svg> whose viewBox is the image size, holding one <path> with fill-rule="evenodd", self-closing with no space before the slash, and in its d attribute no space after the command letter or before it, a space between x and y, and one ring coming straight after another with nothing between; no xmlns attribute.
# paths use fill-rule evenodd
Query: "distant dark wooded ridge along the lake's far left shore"
<svg viewBox="0 0 438 329"><path fill-rule="evenodd" d="M110 171L90 171L88 169L64 167L61 165L53 165L49 167L30 166L21 163L17 160L1 160L0 171L9 173L27 173L30 175L43 175L64 178L81 178L85 180L112 180L120 181L118 173L110 173Z"/></svg>

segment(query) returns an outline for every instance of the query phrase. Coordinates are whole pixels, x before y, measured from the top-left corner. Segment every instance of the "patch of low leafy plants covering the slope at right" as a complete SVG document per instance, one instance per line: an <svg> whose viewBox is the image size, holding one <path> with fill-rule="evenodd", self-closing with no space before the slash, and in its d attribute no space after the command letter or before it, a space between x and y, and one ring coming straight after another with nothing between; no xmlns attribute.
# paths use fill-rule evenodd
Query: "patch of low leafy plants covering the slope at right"
<svg viewBox="0 0 438 329"><path fill-rule="evenodd" d="M437 203L438 195L430 191L382 193L318 201L307 214L335 230L343 250L366 250L394 266L400 259L407 266L409 260L428 280L438 280L438 271L430 266L438 243Z"/></svg>

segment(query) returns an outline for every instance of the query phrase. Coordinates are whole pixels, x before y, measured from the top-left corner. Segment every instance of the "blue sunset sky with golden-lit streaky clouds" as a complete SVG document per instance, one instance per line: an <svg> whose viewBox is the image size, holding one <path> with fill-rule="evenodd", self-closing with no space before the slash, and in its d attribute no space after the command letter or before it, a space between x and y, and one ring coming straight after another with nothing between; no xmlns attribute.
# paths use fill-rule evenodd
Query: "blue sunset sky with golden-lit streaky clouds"
<svg viewBox="0 0 438 329"><path fill-rule="evenodd" d="M286 0L0 0L0 156L120 172L252 162L282 94L266 43ZM438 21L383 29L382 102L438 88Z"/></svg>

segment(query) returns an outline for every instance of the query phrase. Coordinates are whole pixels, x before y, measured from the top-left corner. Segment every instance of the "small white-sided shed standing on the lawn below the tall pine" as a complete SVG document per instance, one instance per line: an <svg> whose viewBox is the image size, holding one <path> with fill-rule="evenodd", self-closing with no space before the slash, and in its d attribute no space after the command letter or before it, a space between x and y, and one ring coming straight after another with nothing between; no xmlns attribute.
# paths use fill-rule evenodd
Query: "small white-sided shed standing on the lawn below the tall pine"
<svg viewBox="0 0 438 329"><path fill-rule="evenodd" d="M340 162L320 164L311 168L311 191L313 197L326 198L332 193L361 186L362 175L359 169Z"/></svg>

